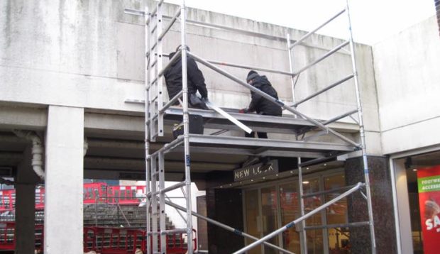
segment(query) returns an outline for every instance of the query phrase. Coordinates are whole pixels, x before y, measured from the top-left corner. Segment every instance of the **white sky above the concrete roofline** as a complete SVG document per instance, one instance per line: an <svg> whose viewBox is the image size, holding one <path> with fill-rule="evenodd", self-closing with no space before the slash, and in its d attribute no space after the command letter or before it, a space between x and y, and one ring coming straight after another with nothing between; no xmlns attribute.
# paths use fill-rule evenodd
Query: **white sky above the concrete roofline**
<svg viewBox="0 0 440 254"><path fill-rule="evenodd" d="M165 0L180 4L181 0ZM341 11L346 0L186 0L189 7L311 31ZM434 0L349 0L353 37L373 45L435 15ZM319 33L347 38L342 15Z"/></svg>

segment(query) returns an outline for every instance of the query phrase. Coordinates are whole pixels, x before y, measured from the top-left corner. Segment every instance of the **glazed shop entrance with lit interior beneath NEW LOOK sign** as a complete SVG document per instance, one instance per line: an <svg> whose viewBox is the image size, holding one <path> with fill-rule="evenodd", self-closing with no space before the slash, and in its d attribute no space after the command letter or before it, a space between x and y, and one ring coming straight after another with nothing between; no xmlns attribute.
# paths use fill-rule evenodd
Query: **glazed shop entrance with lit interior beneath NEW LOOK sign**
<svg viewBox="0 0 440 254"><path fill-rule="evenodd" d="M307 170L306 170L307 171ZM343 168L326 170L304 175L302 184L304 188L304 212L307 213L317 208L326 201L333 199L338 192L314 194L325 192L329 189L339 189L346 186ZM290 177L275 182L255 184L243 189L243 216L244 229L247 233L261 238L268 233L281 228L283 225L297 219L300 213L299 191L297 177ZM282 235L270 240L278 246L293 253L302 253L301 248L306 248L307 253L351 253L350 230L345 227L327 227L348 222L347 199L341 199L328 209L315 214L307 219L306 244L299 228L290 228ZM251 243L246 239L245 244ZM304 250L303 250L304 251ZM268 246L253 248L248 253L271 254L277 250ZM304 253L304 252L303 252Z"/></svg>

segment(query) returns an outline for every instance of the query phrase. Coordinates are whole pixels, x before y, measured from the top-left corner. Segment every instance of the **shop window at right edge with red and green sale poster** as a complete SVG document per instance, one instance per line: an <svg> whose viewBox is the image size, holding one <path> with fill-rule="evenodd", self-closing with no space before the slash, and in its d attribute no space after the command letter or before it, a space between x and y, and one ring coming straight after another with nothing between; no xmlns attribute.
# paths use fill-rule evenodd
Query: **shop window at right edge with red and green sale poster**
<svg viewBox="0 0 440 254"><path fill-rule="evenodd" d="M439 253L440 149L395 155L390 166L399 253Z"/></svg>

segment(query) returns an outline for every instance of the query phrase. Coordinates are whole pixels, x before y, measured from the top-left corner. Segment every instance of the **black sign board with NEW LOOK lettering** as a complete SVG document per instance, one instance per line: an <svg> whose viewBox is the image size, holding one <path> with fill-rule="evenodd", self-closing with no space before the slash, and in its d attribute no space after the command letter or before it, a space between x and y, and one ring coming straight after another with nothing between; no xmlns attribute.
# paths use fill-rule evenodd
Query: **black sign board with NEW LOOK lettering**
<svg viewBox="0 0 440 254"><path fill-rule="evenodd" d="M240 182L255 177L264 177L266 175L274 175L278 172L278 161L270 160L267 164L258 163L247 167L233 170L233 181Z"/></svg>

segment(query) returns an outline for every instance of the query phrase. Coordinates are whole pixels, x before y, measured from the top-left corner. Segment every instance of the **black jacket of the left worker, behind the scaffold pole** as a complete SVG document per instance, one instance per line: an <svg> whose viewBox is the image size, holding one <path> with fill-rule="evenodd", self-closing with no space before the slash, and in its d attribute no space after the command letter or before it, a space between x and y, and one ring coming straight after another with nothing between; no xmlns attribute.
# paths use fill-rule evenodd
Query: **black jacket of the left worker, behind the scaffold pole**
<svg viewBox="0 0 440 254"><path fill-rule="evenodd" d="M170 53L171 57L175 53ZM202 98L208 97L207 85L204 83L202 72L197 67L197 63L192 57L187 57L187 77L188 77L188 95L196 94L199 91ZM168 96L172 99L176 94L182 90L182 57L179 56L177 60L170 67L165 70L163 76L167 84Z"/></svg>

